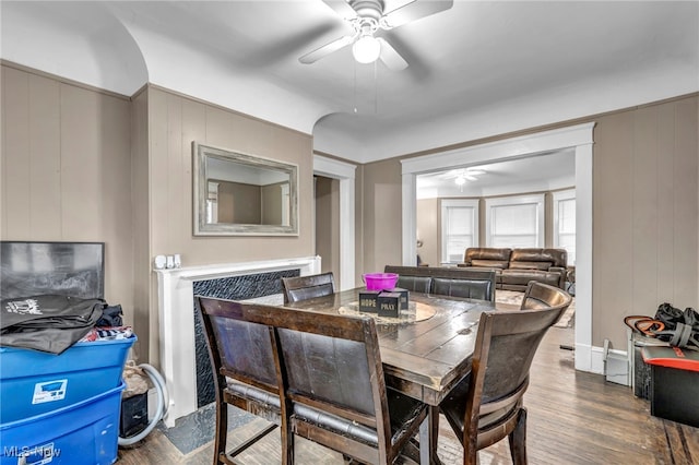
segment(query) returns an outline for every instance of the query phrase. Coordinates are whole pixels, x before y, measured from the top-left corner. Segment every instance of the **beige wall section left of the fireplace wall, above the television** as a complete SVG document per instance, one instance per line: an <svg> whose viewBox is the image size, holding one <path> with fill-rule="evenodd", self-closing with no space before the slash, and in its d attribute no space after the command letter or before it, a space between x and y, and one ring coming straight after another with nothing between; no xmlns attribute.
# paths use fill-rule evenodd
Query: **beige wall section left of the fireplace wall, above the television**
<svg viewBox="0 0 699 465"><path fill-rule="evenodd" d="M130 102L2 65L2 240L105 242L105 298L133 318Z"/></svg>

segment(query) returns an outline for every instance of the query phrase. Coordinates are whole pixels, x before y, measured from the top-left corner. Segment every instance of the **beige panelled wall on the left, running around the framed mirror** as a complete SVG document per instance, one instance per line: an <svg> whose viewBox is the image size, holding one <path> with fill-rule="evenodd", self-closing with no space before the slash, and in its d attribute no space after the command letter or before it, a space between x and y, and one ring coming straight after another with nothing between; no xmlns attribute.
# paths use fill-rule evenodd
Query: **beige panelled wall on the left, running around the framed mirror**
<svg viewBox="0 0 699 465"><path fill-rule="evenodd" d="M158 363L152 260L202 265L315 253L312 138L180 95L144 87L130 102L2 64L2 240L106 243L105 297ZM299 236L192 236L191 142L299 166Z"/></svg>

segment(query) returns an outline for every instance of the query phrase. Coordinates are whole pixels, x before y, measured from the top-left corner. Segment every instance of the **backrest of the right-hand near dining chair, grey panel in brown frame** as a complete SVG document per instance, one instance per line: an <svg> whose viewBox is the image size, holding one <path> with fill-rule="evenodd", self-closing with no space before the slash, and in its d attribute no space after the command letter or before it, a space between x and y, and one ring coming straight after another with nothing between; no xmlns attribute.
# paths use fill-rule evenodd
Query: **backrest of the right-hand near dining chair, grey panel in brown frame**
<svg viewBox="0 0 699 465"><path fill-rule="evenodd" d="M312 424L347 431L386 456L391 428L374 319L281 311L276 327L285 394L298 417L313 418L296 422L295 432L323 443L325 433ZM325 445L339 449L334 441Z"/></svg>

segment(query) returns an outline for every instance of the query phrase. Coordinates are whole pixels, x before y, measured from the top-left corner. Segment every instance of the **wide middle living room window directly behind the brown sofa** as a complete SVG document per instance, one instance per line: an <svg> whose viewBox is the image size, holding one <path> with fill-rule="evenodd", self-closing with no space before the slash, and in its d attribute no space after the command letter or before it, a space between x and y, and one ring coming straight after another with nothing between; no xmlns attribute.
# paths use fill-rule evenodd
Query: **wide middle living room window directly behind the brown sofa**
<svg viewBox="0 0 699 465"><path fill-rule="evenodd" d="M488 247L544 247L544 194L486 199Z"/></svg>

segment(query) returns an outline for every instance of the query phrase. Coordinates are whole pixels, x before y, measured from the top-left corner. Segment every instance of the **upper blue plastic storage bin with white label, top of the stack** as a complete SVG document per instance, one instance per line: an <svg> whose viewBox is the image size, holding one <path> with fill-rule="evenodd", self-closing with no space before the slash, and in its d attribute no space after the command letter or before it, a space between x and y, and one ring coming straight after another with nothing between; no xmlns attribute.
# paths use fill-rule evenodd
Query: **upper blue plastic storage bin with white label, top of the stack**
<svg viewBox="0 0 699 465"><path fill-rule="evenodd" d="M0 424L46 414L117 388L137 337L78 343L60 355L0 348Z"/></svg>

